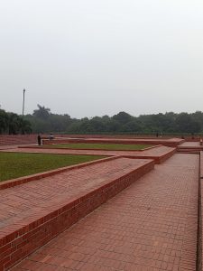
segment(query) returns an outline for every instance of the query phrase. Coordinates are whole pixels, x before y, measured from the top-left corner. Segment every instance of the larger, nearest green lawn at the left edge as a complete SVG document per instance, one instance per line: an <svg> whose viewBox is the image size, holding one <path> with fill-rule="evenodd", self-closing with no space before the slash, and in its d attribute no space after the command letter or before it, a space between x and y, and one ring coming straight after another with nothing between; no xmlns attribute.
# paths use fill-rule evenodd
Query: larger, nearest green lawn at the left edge
<svg viewBox="0 0 203 271"><path fill-rule="evenodd" d="M101 158L105 156L0 153L0 182Z"/></svg>

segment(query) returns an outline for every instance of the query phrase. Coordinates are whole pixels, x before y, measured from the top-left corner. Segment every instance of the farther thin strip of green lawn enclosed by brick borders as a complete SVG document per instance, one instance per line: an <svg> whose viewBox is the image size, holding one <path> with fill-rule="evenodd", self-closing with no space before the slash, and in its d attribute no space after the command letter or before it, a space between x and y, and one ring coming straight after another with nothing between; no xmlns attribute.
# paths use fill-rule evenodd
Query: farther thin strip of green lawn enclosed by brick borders
<svg viewBox="0 0 203 271"><path fill-rule="evenodd" d="M151 147L152 145L128 145L128 144L100 144L100 143L73 143L73 144L56 144L43 145L50 148L68 148L68 149L102 149L114 151L138 151Z"/></svg>

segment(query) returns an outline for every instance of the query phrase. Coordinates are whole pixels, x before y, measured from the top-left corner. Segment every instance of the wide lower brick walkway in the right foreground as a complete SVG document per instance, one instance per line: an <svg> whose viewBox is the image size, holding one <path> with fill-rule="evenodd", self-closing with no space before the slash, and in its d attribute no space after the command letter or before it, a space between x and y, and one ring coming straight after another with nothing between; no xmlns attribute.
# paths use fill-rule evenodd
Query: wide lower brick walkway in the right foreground
<svg viewBox="0 0 203 271"><path fill-rule="evenodd" d="M196 270L198 155L175 154L13 271Z"/></svg>

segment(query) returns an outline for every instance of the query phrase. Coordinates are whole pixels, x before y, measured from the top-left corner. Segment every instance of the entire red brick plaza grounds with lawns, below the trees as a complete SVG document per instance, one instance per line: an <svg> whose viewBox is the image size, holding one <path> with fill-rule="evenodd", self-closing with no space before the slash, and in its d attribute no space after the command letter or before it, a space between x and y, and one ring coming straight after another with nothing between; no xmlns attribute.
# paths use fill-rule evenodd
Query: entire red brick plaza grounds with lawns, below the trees
<svg viewBox="0 0 203 271"><path fill-rule="evenodd" d="M21 136L0 138L0 270L202 270L199 140Z"/></svg>

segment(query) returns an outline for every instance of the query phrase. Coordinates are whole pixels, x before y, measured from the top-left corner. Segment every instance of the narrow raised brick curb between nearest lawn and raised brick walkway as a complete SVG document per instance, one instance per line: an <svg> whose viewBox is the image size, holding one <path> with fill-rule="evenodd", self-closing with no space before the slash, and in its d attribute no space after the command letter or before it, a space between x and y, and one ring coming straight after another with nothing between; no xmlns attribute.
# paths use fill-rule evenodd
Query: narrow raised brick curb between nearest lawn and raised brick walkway
<svg viewBox="0 0 203 271"><path fill-rule="evenodd" d="M58 169L54 169L54 170L51 170L51 171L36 173L36 174L28 175L28 176L19 177L19 178L16 178L16 179L2 181L2 183L0 183L0 190L4 190L4 189L7 189L7 188L12 188L14 186L21 185L21 184L27 183L27 182L37 181L37 180L40 180L40 179L43 179L43 178L46 178L46 177L50 177L50 176L58 174L58 173L63 173L63 172L66 172L66 171L75 170L75 169L78 169L78 168L86 167L88 165L105 163L107 161L115 160L115 159L118 159L120 157L121 156L111 156L111 157L97 159L97 160L94 160L94 161L85 162L85 163L81 163L81 164L74 164L74 165L69 165L69 166L65 166L65 167L60 167Z"/></svg>

